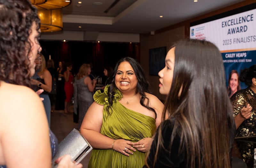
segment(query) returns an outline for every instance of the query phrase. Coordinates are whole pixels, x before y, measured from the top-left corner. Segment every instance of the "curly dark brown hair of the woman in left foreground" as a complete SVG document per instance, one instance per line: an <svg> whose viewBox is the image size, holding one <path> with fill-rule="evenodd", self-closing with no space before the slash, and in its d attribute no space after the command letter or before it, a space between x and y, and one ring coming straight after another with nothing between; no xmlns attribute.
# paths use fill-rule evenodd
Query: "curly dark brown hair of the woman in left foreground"
<svg viewBox="0 0 256 168"><path fill-rule="evenodd" d="M0 0L0 80L30 86L28 36L36 23L40 33L37 9L28 0Z"/></svg>

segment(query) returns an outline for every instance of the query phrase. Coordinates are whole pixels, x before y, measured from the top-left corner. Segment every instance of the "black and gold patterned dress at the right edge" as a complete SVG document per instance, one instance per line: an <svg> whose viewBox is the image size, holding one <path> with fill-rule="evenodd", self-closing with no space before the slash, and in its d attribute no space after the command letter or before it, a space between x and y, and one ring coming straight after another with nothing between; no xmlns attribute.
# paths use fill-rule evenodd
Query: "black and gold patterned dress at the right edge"
<svg viewBox="0 0 256 168"><path fill-rule="evenodd" d="M255 136L256 135L256 95L250 87L237 91L230 98L233 106L233 116L237 116L241 109L245 107L248 103L252 107L252 115L250 118L244 120L244 122L237 128L236 137L245 136ZM249 141L249 140L248 140ZM243 157L243 160L248 163L253 160L254 152L253 149L256 148L256 138L251 138L251 142L239 142L237 141L238 148Z"/></svg>

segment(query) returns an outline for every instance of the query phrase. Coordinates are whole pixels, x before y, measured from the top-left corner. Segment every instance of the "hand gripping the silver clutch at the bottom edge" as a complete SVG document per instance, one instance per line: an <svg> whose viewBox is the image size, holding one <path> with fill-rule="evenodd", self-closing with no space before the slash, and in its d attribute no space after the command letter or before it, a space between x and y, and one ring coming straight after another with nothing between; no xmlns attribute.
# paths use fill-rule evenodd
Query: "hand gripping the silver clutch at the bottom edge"
<svg viewBox="0 0 256 168"><path fill-rule="evenodd" d="M70 155L63 155L55 160L55 163L58 164L57 168L82 168L83 165L81 163L75 164L71 161Z"/></svg>

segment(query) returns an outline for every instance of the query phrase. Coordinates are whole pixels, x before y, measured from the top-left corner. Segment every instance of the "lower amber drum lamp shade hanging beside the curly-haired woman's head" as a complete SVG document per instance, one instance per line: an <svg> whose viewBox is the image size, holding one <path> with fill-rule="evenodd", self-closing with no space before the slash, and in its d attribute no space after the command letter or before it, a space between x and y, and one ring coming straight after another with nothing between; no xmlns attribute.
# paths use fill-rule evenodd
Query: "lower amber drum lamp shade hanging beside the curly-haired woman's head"
<svg viewBox="0 0 256 168"><path fill-rule="evenodd" d="M38 16L41 19L41 32L62 30L62 9L39 10Z"/></svg>

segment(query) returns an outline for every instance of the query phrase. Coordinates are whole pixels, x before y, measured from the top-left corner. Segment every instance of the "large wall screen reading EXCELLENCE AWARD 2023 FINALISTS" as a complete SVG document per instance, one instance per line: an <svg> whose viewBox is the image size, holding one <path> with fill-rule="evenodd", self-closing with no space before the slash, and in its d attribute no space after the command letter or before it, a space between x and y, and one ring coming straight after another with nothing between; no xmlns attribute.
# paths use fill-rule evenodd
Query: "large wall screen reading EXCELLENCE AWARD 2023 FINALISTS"
<svg viewBox="0 0 256 168"><path fill-rule="evenodd" d="M228 86L233 69L240 74L256 64L256 3L191 23L190 38L205 39L219 48Z"/></svg>

